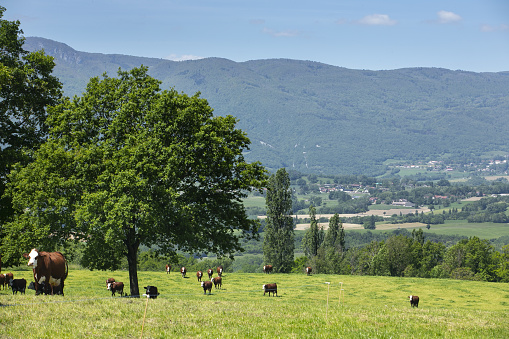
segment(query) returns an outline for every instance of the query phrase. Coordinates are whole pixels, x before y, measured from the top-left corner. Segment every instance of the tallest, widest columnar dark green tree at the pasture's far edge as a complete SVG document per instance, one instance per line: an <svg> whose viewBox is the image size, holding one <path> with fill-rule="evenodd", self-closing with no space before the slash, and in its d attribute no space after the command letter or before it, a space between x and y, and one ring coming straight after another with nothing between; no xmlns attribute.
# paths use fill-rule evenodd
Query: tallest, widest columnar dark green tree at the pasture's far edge
<svg viewBox="0 0 509 339"><path fill-rule="evenodd" d="M293 265L295 244L290 176L284 168L269 178L266 205L263 257L276 272L288 273Z"/></svg>

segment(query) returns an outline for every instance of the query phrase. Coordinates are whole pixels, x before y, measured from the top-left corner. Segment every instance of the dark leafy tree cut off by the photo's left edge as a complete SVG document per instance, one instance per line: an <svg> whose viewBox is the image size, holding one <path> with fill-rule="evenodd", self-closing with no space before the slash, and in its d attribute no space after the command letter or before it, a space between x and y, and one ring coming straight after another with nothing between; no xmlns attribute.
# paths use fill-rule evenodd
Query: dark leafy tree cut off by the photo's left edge
<svg viewBox="0 0 509 339"><path fill-rule="evenodd" d="M23 49L19 21L4 20L0 6L0 225L12 217L3 196L14 163L30 159L23 149L36 149L47 135L46 107L61 97L62 85L51 75L55 63L42 51Z"/></svg>

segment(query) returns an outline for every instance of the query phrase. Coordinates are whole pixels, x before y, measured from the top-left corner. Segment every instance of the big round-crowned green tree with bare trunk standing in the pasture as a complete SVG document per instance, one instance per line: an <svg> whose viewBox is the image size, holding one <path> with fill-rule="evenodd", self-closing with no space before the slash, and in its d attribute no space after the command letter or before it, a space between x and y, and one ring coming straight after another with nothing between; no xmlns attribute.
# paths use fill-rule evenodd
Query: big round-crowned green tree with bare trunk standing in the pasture
<svg viewBox="0 0 509 339"><path fill-rule="evenodd" d="M231 256L257 237L242 198L266 174L244 161L246 134L198 94L161 91L147 70L93 78L82 97L50 110L47 142L10 177L18 215L6 230L9 256L74 239L91 269L127 257L137 296L140 245Z"/></svg>

